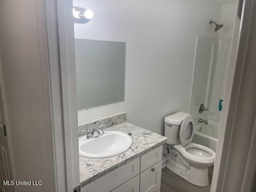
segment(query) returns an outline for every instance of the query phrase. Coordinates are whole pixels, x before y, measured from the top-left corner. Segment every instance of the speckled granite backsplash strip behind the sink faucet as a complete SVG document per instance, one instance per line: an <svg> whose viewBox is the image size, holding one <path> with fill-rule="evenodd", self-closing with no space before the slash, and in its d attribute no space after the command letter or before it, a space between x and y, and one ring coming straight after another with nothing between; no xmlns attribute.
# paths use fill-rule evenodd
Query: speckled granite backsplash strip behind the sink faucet
<svg viewBox="0 0 256 192"><path fill-rule="evenodd" d="M116 114L113 116L101 118L101 119L98 119L95 121L91 121L88 123L79 124L78 125L78 135L79 135L79 137L81 137L84 134L86 134L85 130L97 129L100 125L113 126L113 125L123 123L125 121L126 121L126 114L120 113L120 114Z"/></svg>

